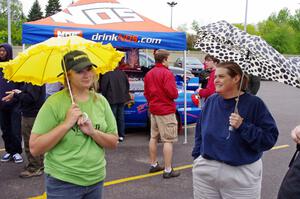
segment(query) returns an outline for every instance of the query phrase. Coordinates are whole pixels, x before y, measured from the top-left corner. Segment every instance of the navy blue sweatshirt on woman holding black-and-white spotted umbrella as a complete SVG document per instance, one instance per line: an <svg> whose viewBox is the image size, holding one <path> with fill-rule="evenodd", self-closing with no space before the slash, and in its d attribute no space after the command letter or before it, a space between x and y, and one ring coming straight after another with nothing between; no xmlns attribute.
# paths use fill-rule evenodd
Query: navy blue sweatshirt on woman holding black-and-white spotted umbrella
<svg viewBox="0 0 300 199"><path fill-rule="evenodd" d="M264 102L251 94L240 96L239 114L242 125L229 131L229 116L234 112L235 99L218 94L209 97L200 115L195 133L194 158L199 155L232 166L250 164L271 149L278 137L276 123Z"/></svg>

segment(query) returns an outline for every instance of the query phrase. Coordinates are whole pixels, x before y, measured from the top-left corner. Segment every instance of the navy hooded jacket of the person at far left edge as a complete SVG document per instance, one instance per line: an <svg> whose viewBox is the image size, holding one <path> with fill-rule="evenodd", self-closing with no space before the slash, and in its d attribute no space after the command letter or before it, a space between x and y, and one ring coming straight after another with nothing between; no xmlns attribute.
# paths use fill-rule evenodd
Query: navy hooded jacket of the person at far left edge
<svg viewBox="0 0 300 199"><path fill-rule="evenodd" d="M1 44L0 47L5 48L6 57L1 59L0 62L6 62L12 59L12 47L9 44ZM8 82L3 78L2 68L0 68L0 109L10 109L16 106L16 100L12 100L10 102L3 102L1 99L5 97L7 94L5 92L11 91L13 89L18 89L19 84Z"/></svg>

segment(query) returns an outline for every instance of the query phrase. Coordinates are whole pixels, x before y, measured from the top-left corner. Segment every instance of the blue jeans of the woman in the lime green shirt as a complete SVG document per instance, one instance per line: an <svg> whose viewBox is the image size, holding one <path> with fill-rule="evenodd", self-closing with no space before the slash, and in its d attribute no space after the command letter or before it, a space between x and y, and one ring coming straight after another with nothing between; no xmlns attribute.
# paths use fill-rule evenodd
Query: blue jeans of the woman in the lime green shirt
<svg viewBox="0 0 300 199"><path fill-rule="evenodd" d="M64 182L46 174L47 199L101 199L103 181L90 186Z"/></svg>

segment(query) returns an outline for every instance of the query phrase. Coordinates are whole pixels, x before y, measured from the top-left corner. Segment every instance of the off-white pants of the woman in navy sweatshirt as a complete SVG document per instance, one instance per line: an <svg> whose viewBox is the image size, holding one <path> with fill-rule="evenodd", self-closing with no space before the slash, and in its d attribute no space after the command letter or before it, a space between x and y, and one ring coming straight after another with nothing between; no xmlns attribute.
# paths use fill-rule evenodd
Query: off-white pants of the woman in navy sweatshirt
<svg viewBox="0 0 300 199"><path fill-rule="evenodd" d="M199 156L193 164L194 199L260 199L262 161L230 166Z"/></svg>

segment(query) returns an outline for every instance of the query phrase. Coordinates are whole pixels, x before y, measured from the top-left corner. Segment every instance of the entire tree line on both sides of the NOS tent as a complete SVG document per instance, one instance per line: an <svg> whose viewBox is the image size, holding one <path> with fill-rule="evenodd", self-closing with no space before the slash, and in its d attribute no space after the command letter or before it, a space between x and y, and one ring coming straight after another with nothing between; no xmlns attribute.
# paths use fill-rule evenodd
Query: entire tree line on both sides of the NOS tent
<svg viewBox="0 0 300 199"><path fill-rule="evenodd" d="M61 11L59 0L48 0L45 15L38 0L33 3L28 16L22 11L19 0L11 0L11 32L13 45L22 44L22 24L51 16ZM244 29L243 24L233 24ZM7 0L0 0L0 43L7 42ZM197 21L191 23L191 29L197 32L200 25ZM177 28L179 31L187 32L188 25L183 24ZM249 34L258 35L265 39L277 51L283 54L300 54L300 9L291 14L290 10L283 8L278 13L272 13L266 20L258 24L247 25ZM195 50L194 44L196 34L187 32L188 50Z"/></svg>

